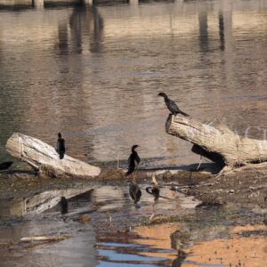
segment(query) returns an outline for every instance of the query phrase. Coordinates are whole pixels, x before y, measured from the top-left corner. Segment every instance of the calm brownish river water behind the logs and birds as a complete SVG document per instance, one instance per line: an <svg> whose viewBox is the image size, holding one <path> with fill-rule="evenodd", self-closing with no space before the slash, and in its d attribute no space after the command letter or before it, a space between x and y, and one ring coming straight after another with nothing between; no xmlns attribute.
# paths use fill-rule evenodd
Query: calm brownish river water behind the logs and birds
<svg viewBox="0 0 267 267"><path fill-rule="evenodd" d="M1 160L14 132L52 145L61 132L86 161L125 159L137 143L145 166L189 164L158 92L262 139L266 89L265 0L0 5Z"/></svg>

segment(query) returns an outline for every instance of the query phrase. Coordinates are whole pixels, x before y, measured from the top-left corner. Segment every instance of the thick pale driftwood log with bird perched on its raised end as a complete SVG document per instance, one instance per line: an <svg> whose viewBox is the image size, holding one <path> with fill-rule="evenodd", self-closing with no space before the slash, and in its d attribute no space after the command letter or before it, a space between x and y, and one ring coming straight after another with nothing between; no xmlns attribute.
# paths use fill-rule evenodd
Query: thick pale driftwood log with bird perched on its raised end
<svg viewBox="0 0 267 267"><path fill-rule="evenodd" d="M239 136L219 122L206 125L190 117L170 115L166 133L193 143L193 152L226 166L267 161L266 141Z"/></svg>

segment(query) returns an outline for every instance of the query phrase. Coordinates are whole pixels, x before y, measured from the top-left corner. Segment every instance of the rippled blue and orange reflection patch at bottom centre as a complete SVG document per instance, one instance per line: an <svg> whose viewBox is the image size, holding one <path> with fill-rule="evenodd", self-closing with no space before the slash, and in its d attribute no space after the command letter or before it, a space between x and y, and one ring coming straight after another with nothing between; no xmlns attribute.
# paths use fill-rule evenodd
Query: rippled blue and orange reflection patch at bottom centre
<svg viewBox="0 0 267 267"><path fill-rule="evenodd" d="M178 257L171 242L171 235L177 229L175 224L140 227L127 233L125 239L122 234L121 239L117 239L119 243L97 243L98 266L170 266Z"/></svg>

